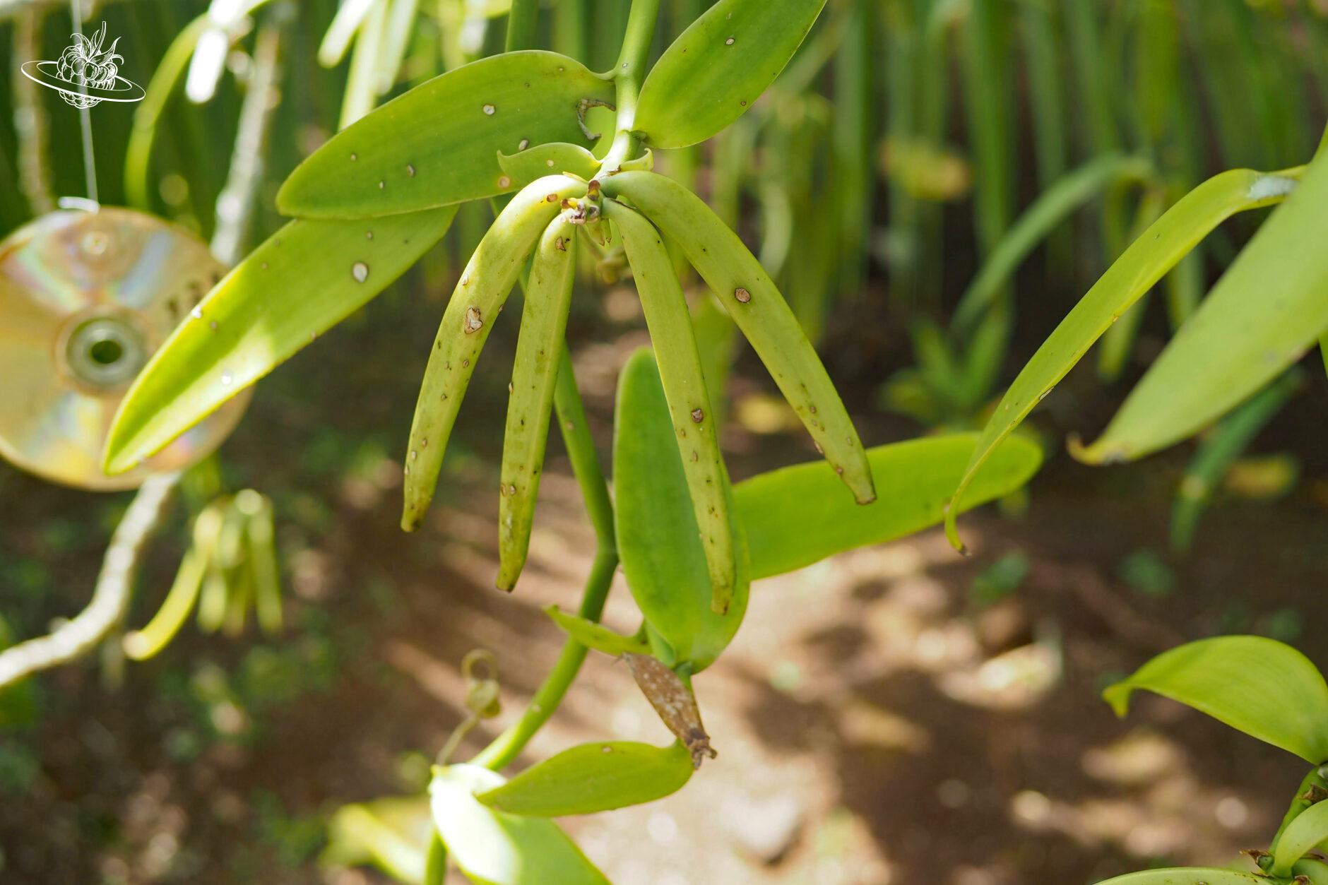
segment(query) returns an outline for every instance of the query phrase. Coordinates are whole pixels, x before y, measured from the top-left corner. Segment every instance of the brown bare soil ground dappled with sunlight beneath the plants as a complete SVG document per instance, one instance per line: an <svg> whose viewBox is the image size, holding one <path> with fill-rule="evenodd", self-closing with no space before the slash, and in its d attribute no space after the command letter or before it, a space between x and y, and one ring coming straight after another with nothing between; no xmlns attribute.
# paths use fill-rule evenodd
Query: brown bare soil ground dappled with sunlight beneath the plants
<svg viewBox="0 0 1328 885"><path fill-rule="evenodd" d="M42 676L40 722L0 732L0 881L377 882L316 866L319 821L418 787L422 760L465 714L457 667L469 650L497 655L503 712L458 757L518 714L562 643L539 609L575 605L594 540L552 442L527 573L513 595L491 589L511 356L501 336L458 424L441 506L422 533L400 533L397 449L414 355L432 335L409 320L418 307L393 296L372 323L309 348L262 387L226 449L228 478L278 504L287 635L227 640L190 625L118 686L93 663ZM641 334L628 322L596 339L608 343L578 348L578 368L607 446L614 375ZM865 439L916 433L869 415L870 364L835 367ZM762 383L742 365L738 395ZM1266 442L1304 458L1301 484L1275 504L1220 502L1185 559L1165 551L1182 446L1096 470L1053 454L1025 513L964 520L968 558L932 530L757 585L729 652L696 684L718 759L669 799L566 825L618 885L1050 885L1226 864L1264 845L1299 760L1155 698L1117 720L1098 692L1219 631L1307 625L1299 646L1328 664L1311 642L1328 614L1316 384L1292 409L1317 417L1288 417ZM1040 423L1090 432L1113 396L1072 377ZM726 437L736 476L814 456L801 435ZM0 610L31 633L86 598L124 500L0 470ZM134 623L169 582L179 529L154 547ZM1169 563L1174 591L1122 578L1141 550ZM979 605L973 579L1008 553L1027 557L1028 578ZM620 578L607 621L635 626ZM668 735L625 667L592 654L522 763L603 738Z"/></svg>

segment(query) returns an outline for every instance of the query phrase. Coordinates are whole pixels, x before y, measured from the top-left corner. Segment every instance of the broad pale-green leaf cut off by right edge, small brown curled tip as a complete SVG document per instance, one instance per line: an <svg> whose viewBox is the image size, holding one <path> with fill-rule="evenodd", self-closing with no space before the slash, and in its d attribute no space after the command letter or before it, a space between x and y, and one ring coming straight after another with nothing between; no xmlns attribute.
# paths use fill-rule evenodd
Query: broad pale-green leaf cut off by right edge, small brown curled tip
<svg viewBox="0 0 1328 885"><path fill-rule="evenodd" d="M1325 229L1328 154L1309 165L1080 457L1134 460L1178 442L1304 356L1328 330Z"/></svg>

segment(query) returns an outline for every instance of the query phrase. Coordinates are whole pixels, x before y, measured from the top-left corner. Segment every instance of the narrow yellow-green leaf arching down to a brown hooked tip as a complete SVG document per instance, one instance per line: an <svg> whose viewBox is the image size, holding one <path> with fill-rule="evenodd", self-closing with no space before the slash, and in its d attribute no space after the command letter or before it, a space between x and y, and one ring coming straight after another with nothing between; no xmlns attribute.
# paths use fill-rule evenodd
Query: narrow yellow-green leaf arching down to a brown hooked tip
<svg viewBox="0 0 1328 885"><path fill-rule="evenodd" d="M1214 227L1235 213L1282 202L1295 187L1301 171L1301 167L1280 173L1234 169L1214 175L1177 201L1142 237L1130 243L1037 348L983 428L946 516L946 534L951 543L959 549L964 546L955 529L959 504L996 444L1052 392L1056 383L1074 368L1112 323Z"/></svg>

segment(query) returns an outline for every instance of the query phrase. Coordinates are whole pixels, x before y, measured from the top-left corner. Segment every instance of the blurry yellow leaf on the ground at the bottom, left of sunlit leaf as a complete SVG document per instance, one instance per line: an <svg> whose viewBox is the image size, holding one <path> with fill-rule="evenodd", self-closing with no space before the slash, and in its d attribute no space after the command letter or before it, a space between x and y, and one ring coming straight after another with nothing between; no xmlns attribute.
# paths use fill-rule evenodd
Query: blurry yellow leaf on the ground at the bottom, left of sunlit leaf
<svg viewBox="0 0 1328 885"><path fill-rule="evenodd" d="M328 821L328 844L319 862L373 864L398 882L420 885L432 837L428 796L388 796L343 805Z"/></svg>

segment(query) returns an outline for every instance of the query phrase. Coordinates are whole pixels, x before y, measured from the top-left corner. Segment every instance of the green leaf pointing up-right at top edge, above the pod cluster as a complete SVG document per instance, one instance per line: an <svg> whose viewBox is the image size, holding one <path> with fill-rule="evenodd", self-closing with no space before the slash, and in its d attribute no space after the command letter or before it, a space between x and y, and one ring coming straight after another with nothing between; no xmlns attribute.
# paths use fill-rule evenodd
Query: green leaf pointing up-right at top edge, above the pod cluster
<svg viewBox="0 0 1328 885"><path fill-rule="evenodd" d="M720 0L651 68L633 129L655 148L687 148L716 134L774 82L823 5Z"/></svg>

